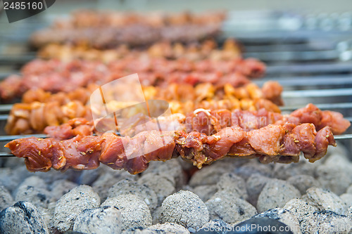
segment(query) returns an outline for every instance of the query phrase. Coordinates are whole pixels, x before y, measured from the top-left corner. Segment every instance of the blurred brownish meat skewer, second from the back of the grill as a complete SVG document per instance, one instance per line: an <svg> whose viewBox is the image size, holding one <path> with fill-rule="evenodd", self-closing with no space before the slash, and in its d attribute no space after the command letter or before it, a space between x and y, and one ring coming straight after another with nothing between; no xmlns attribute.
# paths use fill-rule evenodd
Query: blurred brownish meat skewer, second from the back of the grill
<svg viewBox="0 0 352 234"><path fill-rule="evenodd" d="M149 46L156 41L171 41L191 44L194 41L215 38L219 25L175 25L151 27L130 25L128 27L94 27L80 29L44 29L32 34L30 42L39 48L46 44L87 44L92 48L115 48L121 44L133 47Z"/></svg>

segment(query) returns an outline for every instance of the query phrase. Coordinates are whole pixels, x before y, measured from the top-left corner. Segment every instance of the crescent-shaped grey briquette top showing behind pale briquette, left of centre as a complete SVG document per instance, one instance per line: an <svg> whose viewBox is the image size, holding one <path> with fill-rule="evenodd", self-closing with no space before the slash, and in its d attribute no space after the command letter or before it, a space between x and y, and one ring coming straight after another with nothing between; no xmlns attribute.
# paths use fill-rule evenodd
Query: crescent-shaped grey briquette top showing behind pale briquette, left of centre
<svg viewBox="0 0 352 234"><path fill-rule="evenodd" d="M148 205L149 209L156 209L158 205L158 198L156 193L146 185L141 185L130 178L115 183L113 187L108 190L108 198L118 197L119 195L137 195Z"/></svg>

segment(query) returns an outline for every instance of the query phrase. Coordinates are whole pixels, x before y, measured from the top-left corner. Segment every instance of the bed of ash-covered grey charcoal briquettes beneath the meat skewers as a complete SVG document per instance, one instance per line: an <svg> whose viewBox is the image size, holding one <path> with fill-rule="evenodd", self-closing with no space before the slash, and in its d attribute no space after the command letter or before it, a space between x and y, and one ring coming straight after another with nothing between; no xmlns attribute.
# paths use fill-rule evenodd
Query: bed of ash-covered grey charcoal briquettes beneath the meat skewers
<svg viewBox="0 0 352 234"><path fill-rule="evenodd" d="M352 162L260 164L227 158L195 169L151 162L142 174L0 168L0 233L350 233ZM270 228L272 230L270 230Z"/></svg>

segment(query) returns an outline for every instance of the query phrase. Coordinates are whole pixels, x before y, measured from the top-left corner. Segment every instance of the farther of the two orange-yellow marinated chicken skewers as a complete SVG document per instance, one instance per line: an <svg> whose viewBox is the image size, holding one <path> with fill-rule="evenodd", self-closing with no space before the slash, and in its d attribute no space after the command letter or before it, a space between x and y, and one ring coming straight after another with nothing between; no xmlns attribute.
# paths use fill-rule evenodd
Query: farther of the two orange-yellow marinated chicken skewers
<svg viewBox="0 0 352 234"><path fill-rule="evenodd" d="M83 105L87 104L92 92L99 89L98 84L89 84L87 88L78 88L68 93L58 92L50 93L43 89L30 89L22 96L22 103L49 103L57 101L60 104L69 103L70 101L79 100ZM278 82L265 82L262 88L256 84L250 83L244 86L234 87L231 84L215 86L210 83L196 84L177 84L172 83L167 86L143 86L144 96L146 99L161 99L168 101L192 101L200 102L202 100L241 100L241 99L259 99L264 98L272 101L276 105L282 105L281 98L282 86Z"/></svg>

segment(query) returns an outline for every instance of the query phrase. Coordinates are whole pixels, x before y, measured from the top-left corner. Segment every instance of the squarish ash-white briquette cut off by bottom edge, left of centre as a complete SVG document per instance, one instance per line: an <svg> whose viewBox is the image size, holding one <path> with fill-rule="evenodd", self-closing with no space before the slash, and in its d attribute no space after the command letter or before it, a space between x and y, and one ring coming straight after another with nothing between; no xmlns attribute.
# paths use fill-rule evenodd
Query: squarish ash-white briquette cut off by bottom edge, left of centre
<svg viewBox="0 0 352 234"><path fill-rule="evenodd" d="M115 207L84 209L73 225L73 230L85 233L121 233L121 213Z"/></svg>

